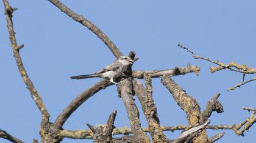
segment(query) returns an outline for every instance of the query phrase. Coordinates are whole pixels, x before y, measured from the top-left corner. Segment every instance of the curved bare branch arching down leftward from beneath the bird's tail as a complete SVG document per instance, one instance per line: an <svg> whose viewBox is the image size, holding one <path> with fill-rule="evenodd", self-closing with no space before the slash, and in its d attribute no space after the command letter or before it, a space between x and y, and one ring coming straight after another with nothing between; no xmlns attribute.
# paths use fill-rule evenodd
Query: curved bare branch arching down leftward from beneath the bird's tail
<svg viewBox="0 0 256 143"><path fill-rule="evenodd" d="M87 90L83 91L78 95L69 105L66 107L63 112L58 116L58 118L54 122L54 128L60 129L62 125L66 122L69 116L88 98L93 96L99 90L102 90L109 85L112 85L107 79L102 79L98 83L94 84L92 87L88 88Z"/></svg>

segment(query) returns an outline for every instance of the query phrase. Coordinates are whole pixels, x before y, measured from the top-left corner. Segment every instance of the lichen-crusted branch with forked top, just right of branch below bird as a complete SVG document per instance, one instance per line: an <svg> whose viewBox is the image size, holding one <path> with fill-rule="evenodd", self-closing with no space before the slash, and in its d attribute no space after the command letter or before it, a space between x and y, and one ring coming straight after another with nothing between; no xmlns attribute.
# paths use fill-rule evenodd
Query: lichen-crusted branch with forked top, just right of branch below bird
<svg viewBox="0 0 256 143"><path fill-rule="evenodd" d="M148 121L152 140L153 142L168 142L168 139L160 128L157 107L155 107L154 99L152 97L151 78L148 75L144 75L144 79L146 81L147 90L138 79L133 79L133 88Z"/></svg>

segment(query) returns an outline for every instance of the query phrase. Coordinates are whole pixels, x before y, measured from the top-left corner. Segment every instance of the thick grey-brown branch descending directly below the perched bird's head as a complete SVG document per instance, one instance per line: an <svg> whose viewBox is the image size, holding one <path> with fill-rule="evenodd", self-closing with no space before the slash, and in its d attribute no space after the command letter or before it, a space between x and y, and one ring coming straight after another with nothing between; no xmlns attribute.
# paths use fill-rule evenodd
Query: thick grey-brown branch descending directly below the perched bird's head
<svg viewBox="0 0 256 143"><path fill-rule="evenodd" d="M133 85L132 78L125 78L118 82L118 93L123 99L126 106L127 116L130 121L130 127L132 128L133 135L138 138L138 141L149 142L148 136L142 131L139 111L133 99Z"/></svg>

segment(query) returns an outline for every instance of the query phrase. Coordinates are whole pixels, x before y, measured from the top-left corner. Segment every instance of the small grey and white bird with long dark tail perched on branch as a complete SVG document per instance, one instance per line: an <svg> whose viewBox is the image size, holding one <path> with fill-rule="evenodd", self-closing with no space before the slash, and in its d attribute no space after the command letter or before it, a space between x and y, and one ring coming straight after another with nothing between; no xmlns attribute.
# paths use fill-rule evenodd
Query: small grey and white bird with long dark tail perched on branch
<svg viewBox="0 0 256 143"><path fill-rule="evenodd" d="M115 62L107 65L107 67L102 68L96 73L90 75L71 76L70 79L87 79L98 77L103 79L110 79L110 82L112 82L113 84L118 84L114 81L114 79L123 75L124 71L127 70L127 67L132 65L133 62L134 61L129 56L119 56L119 58L116 59Z"/></svg>

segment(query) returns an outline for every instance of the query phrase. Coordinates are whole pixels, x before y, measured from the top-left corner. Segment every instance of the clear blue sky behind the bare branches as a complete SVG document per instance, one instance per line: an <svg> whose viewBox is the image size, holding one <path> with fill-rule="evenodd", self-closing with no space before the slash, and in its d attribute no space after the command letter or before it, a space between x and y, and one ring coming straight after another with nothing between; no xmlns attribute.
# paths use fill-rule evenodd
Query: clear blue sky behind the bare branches
<svg viewBox="0 0 256 143"><path fill-rule="evenodd" d="M256 108L256 82L235 91L226 88L241 82L242 75L231 71L211 74L209 62L193 59L177 47L182 42L207 58L222 62L235 61L256 68L256 1L63 1L74 12L84 15L108 35L121 52L130 50L140 59L133 70L162 70L185 67L188 63L201 67L196 76L190 73L173 79L204 110L207 101L220 92L224 113L213 113L210 124L236 124L251 113L241 107ZM10 1L15 11L13 22L24 65L30 79L43 98L51 121L62 112L80 92L100 79L70 80L69 76L94 73L115 59L110 50L87 28L61 13L48 1ZM18 73L10 48L9 34L0 2L0 128L31 142L40 139L41 116L30 98L29 91ZM255 75L246 76L246 79ZM187 125L185 113L163 87L154 79L153 96L161 125ZM136 99L138 103L138 99ZM141 124L147 126L139 104ZM81 105L68 119L64 128L78 130L105 124L108 115L118 110L116 127L129 126L123 101L116 86L100 91ZM207 130L208 136L221 132ZM218 142L255 142L256 125L238 137L233 131ZM180 131L166 132L174 139ZM0 139L0 142L7 142ZM64 139L63 142L84 142ZM87 140L87 142L91 142Z"/></svg>

